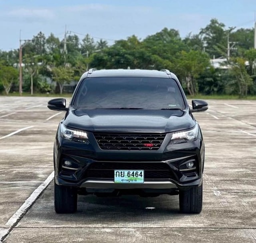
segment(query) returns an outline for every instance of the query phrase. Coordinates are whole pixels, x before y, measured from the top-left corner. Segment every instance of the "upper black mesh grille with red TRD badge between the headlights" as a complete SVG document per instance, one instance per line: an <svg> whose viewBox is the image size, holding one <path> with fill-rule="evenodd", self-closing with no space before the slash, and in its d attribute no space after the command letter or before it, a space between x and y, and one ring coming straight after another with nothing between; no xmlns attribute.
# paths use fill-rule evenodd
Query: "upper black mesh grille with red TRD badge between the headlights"
<svg viewBox="0 0 256 243"><path fill-rule="evenodd" d="M157 150L165 134L144 133L94 133L103 150Z"/></svg>

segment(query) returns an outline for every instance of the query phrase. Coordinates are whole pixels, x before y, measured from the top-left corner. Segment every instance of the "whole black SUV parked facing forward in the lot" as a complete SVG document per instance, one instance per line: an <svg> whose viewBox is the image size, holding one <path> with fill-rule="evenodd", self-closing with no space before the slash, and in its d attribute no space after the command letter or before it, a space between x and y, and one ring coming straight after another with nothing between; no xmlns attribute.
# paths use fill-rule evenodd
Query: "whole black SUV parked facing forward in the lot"
<svg viewBox="0 0 256 243"><path fill-rule="evenodd" d="M85 72L54 142L54 205L75 212L77 194L179 195L180 212L202 208L204 143L177 77L169 70Z"/></svg>

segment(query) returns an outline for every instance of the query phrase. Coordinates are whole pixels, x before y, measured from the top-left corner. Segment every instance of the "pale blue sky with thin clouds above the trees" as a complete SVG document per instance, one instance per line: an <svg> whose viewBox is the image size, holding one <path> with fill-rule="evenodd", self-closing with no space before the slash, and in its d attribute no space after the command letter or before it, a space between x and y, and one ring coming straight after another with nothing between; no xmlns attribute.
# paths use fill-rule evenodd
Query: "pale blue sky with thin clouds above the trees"
<svg viewBox="0 0 256 243"><path fill-rule="evenodd" d="M0 49L18 48L39 31L63 38L65 25L80 38L143 39L164 27L198 33L211 18L226 27L252 28L256 0L0 0Z"/></svg>

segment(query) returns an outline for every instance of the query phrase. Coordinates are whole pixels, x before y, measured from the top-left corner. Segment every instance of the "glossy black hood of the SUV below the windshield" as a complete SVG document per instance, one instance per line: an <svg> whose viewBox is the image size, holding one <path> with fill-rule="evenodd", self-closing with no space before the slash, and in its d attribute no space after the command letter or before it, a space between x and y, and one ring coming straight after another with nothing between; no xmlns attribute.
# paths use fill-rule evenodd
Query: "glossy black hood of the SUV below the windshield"
<svg viewBox="0 0 256 243"><path fill-rule="evenodd" d="M86 131L171 132L193 127L188 110L70 109L64 125Z"/></svg>

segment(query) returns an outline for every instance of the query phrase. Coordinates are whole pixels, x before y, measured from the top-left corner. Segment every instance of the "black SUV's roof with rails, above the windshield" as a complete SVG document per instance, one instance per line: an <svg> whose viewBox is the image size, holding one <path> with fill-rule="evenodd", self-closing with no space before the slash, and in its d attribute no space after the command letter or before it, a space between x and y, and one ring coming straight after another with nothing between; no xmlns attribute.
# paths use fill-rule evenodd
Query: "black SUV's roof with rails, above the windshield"
<svg viewBox="0 0 256 243"><path fill-rule="evenodd" d="M90 69L84 72L81 79L85 77L114 77L114 76L133 76L133 77L171 77L177 78L176 75L168 70L143 70L143 69Z"/></svg>

